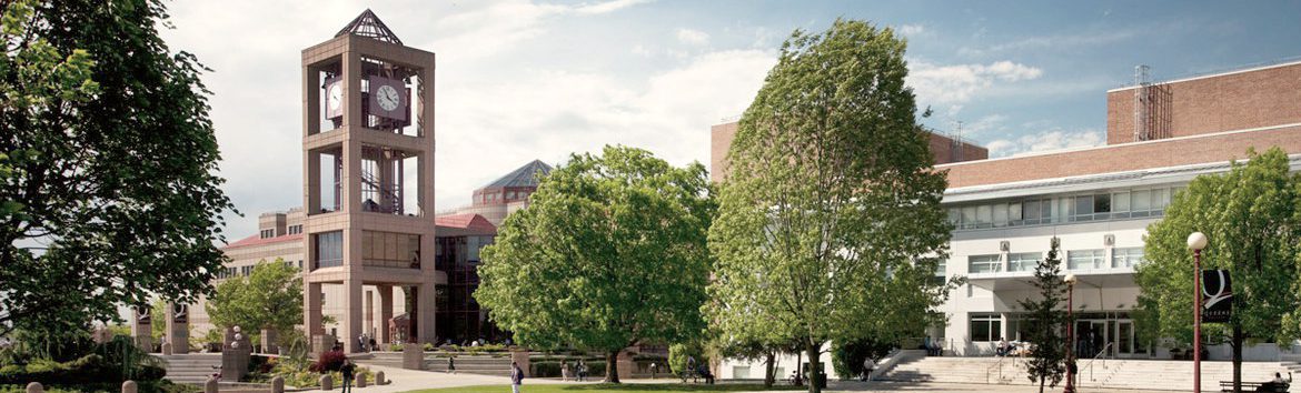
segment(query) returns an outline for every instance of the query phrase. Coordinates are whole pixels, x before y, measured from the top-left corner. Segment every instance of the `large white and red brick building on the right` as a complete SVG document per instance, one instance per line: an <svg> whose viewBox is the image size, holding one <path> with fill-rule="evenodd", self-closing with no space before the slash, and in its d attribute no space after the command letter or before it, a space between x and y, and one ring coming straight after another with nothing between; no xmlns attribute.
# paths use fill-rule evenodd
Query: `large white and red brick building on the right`
<svg viewBox="0 0 1301 393"><path fill-rule="evenodd" d="M1248 148L1279 147L1301 170L1301 62L1129 86L1106 97L1107 144L1101 147L986 158L985 150L964 145L964 154L978 153L946 162L956 157L955 144L941 141L937 149L933 139L935 167L948 173L942 204L955 226L951 254L935 275L968 278L939 309L948 324L926 329L946 353L987 355L1000 337L1021 336L1017 301L1033 296L1034 265L1056 236L1063 271L1079 279L1076 331L1097 337L1089 345L1098 353L1086 357L1170 358L1168 349L1138 341L1129 315L1146 227L1194 176L1227 171ZM735 128L713 127L716 182L726 176ZM1210 359L1229 357L1227 345L1209 350ZM1287 350L1258 344L1245 357L1278 361ZM782 362L794 370L794 358ZM761 372L752 366L761 367L729 362L719 375Z"/></svg>

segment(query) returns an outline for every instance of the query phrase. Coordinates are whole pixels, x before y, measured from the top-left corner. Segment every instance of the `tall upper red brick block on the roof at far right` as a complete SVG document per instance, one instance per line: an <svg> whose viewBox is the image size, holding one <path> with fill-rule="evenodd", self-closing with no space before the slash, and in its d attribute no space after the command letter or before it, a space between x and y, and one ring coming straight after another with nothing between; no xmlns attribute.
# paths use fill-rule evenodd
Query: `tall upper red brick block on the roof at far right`
<svg viewBox="0 0 1301 393"><path fill-rule="evenodd" d="M1166 84L1174 137L1301 122L1301 64ZM1107 92L1107 144L1133 141L1133 88Z"/></svg>

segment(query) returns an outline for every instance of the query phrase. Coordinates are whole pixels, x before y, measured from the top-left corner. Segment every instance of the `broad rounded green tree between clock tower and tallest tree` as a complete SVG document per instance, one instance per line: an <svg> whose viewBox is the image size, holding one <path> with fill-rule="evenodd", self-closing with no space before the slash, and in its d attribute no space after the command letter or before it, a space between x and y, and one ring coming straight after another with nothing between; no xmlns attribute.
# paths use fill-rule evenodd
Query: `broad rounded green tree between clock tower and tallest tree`
<svg viewBox="0 0 1301 393"><path fill-rule="evenodd" d="M605 353L618 383L619 350L704 329L713 213L700 163L624 147L574 154L484 248L474 296L522 344Z"/></svg>

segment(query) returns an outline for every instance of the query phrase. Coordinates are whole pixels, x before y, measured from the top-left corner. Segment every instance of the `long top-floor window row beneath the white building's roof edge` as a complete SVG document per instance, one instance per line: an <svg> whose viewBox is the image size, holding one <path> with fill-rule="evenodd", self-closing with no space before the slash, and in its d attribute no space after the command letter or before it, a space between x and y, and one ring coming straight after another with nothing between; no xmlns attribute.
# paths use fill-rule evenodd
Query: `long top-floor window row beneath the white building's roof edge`
<svg viewBox="0 0 1301 393"><path fill-rule="evenodd" d="M1171 196L1180 189L1183 187L1124 189L950 206L948 220L958 230L980 230L1160 217L1170 205Z"/></svg>

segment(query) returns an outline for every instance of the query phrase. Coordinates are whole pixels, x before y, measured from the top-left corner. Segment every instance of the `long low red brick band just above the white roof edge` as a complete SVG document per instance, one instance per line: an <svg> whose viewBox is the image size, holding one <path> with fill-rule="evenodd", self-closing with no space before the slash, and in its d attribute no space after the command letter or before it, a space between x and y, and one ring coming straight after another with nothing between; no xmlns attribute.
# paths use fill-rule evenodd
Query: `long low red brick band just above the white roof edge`
<svg viewBox="0 0 1301 393"><path fill-rule="evenodd" d="M1249 147L1254 147L1258 152L1270 147L1280 147L1292 154L1301 153L1301 126L1162 139L1055 154L960 162L937 166L937 169L948 170L948 187L958 188L1228 162L1233 158L1245 158Z"/></svg>

